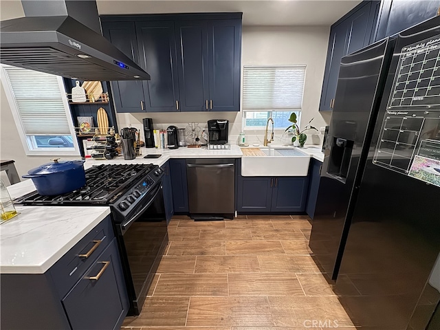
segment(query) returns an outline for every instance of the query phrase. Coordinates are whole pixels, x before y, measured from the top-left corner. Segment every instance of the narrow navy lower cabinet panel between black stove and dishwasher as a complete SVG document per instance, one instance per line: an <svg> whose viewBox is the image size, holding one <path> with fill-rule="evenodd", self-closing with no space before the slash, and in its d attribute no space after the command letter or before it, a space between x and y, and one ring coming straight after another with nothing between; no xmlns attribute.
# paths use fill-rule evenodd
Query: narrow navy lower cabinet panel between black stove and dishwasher
<svg viewBox="0 0 440 330"><path fill-rule="evenodd" d="M169 162L174 212L189 212L186 159L170 159Z"/></svg>

